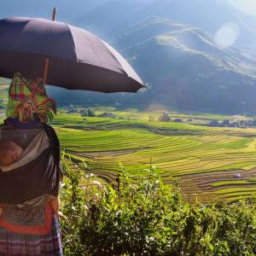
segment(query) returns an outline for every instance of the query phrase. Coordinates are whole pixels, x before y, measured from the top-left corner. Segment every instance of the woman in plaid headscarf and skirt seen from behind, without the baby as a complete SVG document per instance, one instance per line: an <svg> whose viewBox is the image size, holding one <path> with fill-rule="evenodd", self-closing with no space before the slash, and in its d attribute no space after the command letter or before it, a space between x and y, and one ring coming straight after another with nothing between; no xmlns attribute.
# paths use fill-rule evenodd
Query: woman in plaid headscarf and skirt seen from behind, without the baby
<svg viewBox="0 0 256 256"><path fill-rule="evenodd" d="M55 113L43 80L15 73L0 138L14 141L24 152L15 163L0 166L2 256L63 255L59 220L50 207L62 179L59 140L47 125Z"/></svg>

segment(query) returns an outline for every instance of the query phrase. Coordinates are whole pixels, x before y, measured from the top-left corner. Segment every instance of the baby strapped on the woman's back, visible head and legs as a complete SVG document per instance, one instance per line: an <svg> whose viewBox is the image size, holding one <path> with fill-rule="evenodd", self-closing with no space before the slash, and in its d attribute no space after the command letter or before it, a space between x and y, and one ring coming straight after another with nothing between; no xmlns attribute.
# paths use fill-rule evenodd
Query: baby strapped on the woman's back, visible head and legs
<svg viewBox="0 0 256 256"><path fill-rule="evenodd" d="M20 159L23 153L23 148L13 141L1 139L0 140L0 167L9 166L15 163L16 160ZM58 196L49 195L50 205L55 212L56 217L63 217L62 212L60 212L60 199ZM3 213L3 208L0 207L0 216Z"/></svg>

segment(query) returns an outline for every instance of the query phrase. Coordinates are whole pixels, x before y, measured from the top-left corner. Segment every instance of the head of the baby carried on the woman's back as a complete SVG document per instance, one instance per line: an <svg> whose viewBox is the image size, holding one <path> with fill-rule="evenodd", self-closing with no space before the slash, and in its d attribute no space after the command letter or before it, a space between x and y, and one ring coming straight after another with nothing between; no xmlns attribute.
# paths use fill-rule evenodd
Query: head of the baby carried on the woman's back
<svg viewBox="0 0 256 256"><path fill-rule="evenodd" d="M9 166L18 160L23 149L10 140L0 140L0 166Z"/></svg>

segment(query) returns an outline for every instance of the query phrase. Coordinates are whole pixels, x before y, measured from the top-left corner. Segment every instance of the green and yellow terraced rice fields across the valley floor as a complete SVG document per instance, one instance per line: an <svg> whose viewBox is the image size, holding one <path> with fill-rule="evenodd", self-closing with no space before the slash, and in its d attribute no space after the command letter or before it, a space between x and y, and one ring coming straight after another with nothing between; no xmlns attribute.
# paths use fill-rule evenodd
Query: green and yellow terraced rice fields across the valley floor
<svg viewBox="0 0 256 256"><path fill-rule="evenodd" d="M0 90L0 104L6 105L7 85L1 80ZM211 203L222 198L231 202L256 191L256 127L206 125L212 119L244 117L169 113L171 119L182 119L181 123L160 122L162 111L94 111L96 115L108 111L115 118L82 117L60 109L51 125L60 138L61 149L73 160L89 163L90 172L103 183L116 185L120 166L131 177L140 174L145 178L155 166L154 173L164 183L177 182L188 201ZM3 113L0 109L1 121ZM240 177L235 177L236 173Z"/></svg>

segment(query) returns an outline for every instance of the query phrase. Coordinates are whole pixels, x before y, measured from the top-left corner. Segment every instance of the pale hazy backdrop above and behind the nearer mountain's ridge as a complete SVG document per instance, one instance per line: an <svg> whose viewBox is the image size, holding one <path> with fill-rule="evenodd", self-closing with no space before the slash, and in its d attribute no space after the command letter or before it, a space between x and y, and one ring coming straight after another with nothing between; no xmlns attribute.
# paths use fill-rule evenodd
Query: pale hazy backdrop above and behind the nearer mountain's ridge
<svg viewBox="0 0 256 256"><path fill-rule="evenodd" d="M165 17L178 23L201 27L214 35L225 24L235 24L238 38L235 46L256 55L255 15L235 8L247 6L253 0L2 0L0 18L9 16L50 19L57 8L56 20L81 26L109 41L137 22L151 16ZM255 6L254 6L255 7ZM253 8L252 8L253 9ZM253 11L251 11L253 13Z"/></svg>

